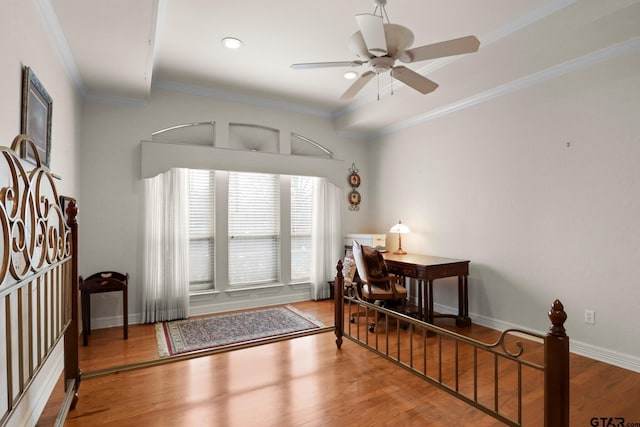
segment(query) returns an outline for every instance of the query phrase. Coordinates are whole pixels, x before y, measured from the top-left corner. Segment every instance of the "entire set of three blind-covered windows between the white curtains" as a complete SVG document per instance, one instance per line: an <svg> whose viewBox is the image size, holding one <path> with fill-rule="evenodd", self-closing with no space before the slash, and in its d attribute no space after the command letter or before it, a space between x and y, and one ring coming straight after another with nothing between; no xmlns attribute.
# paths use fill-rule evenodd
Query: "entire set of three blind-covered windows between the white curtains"
<svg viewBox="0 0 640 427"><path fill-rule="evenodd" d="M223 176L226 173L218 175ZM284 265L291 266L291 281L309 281L314 178L291 176L290 187L282 190L291 195L291 221L286 224L291 231L291 251L286 254L281 253L280 245L280 176L229 172L228 191L219 194L220 200L214 200L215 179L214 171L189 171L190 291L216 288L215 270L220 267L215 264L216 203L228 211L228 224L218 225L228 225L228 285L279 282L281 257L290 258Z"/></svg>

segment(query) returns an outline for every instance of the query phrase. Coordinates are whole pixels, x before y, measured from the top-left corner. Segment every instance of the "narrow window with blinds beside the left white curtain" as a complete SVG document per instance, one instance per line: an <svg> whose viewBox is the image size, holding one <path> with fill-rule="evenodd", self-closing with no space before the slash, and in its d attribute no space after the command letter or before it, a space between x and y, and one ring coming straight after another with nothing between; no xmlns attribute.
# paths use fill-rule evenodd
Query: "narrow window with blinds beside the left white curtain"
<svg viewBox="0 0 640 427"><path fill-rule="evenodd" d="M189 290L213 289L214 172L189 170Z"/></svg>

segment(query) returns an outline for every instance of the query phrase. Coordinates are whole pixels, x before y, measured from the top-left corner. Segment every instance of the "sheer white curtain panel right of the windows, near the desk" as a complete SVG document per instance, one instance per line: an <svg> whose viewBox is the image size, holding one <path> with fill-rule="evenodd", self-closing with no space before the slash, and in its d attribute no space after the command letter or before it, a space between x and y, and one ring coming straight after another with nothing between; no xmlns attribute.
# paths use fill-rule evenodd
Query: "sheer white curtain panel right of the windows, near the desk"
<svg viewBox="0 0 640 427"><path fill-rule="evenodd" d="M319 300L329 297L327 282L335 278L344 253L342 189L326 178L314 180L311 241L311 297Z"/></svg>

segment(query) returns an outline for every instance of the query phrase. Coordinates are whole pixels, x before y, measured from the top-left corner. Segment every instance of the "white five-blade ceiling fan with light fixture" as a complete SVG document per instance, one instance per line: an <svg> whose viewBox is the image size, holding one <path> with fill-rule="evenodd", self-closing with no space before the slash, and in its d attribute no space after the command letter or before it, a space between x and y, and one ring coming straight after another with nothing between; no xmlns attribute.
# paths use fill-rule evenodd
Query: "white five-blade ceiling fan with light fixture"
<svg viewBox="0 0 640 427"><path fill-rule="evenodd" d="M372 14L356 15L356 23L360 31L353 34L349 40L349 48L359 59L293 64L291 68L358 67L368 64L369 70L362 73L342 94L341 99L344 100L353 98L374 76L387 71L390 72L391 77L424 95L436 90L438 84L403 65L395 65L397 60L404 63L425 61L476 52L480 47L480 41L475 36L466 36L409 49L413 44L411 30L389 22L385 9L387 0L374 1L376 6ZM387 23L384 23L384 18Z"/></svg>

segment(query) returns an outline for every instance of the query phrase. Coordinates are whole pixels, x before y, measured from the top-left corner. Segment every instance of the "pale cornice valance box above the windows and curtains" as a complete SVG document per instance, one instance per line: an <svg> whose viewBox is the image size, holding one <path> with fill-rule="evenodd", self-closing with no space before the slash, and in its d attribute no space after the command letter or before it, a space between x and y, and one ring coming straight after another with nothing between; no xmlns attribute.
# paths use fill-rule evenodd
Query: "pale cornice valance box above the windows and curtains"
<svg viewBox="0 0 640 427"><path fill-rule="evenodd" d="M343 187L343 160L141 141L141 175L152 178L172 168L260 172L325 177Z"/></svg>

